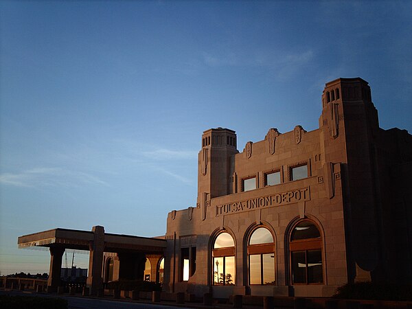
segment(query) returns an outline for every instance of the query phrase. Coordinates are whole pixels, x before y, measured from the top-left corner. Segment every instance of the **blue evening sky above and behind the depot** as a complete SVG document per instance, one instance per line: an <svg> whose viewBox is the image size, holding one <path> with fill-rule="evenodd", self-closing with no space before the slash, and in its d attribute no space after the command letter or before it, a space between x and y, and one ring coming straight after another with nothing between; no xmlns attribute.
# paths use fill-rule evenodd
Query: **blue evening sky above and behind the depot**
<svg viewBox="0 0 412 309"><path fill-rule="evenodd" d="M27 233L163 235L204 130L314 130L335 78L411 133L411 33L411 1L1 1L1 275L48 272Z"/></svg>

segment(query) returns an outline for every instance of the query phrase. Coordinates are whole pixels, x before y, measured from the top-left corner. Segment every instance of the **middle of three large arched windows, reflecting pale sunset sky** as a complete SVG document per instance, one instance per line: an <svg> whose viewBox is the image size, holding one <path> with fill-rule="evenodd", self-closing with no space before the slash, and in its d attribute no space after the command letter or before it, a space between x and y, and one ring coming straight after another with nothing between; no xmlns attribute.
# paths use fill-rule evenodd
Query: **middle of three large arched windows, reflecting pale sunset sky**
<svg viewBox="0 0 412 309"><path fill-rule="evenodd" d="M249 284L275 284L275 244L268 229L258 227L247 246Z"/></svg>

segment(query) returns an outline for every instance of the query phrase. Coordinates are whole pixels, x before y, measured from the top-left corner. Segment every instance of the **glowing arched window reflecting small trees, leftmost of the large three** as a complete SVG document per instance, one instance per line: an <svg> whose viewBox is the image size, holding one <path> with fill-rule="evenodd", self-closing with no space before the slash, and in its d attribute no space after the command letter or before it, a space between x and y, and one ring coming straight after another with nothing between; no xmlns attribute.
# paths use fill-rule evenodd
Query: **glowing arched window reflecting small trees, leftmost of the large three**
<svg viewBox="0 0 412 309"><path fill-rule="evenodd" d="M235 284L235 242L227 232L220 233L214 241L213 251L213 284Z"/></svg>

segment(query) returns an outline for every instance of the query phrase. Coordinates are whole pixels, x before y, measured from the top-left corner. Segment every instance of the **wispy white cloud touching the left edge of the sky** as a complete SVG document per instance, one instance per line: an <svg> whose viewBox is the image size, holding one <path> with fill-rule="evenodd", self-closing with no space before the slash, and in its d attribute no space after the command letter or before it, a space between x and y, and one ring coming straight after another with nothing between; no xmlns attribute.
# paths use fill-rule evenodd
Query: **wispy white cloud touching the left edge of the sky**
<svg viewBox="0 0 412 309"><path fill-rule="evenodd" d="M80 183L108 185L97 176L64 168L32 168L17 173L0 174L0 183L16 187L78 186Z"/></svg>

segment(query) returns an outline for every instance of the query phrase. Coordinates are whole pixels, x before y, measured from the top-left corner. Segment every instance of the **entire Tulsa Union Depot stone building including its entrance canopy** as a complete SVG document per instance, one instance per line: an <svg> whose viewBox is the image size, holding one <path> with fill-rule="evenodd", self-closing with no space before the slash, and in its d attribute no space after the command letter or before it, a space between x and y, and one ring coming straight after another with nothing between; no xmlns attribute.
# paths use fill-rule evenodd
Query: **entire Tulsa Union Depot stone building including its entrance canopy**
<svg viewBox="0 0 412 309"><path fill-rule="evenodd" d="M412 283L412 135L383 130L361 78L325 85L319 128L238 150L228 128L206 130L196 207L168 214L165 236L53 229L21 236L49 247L49 286L65 249L90 251L91 293L117 279L163 291L330 296L348 282Z"/></svg>

